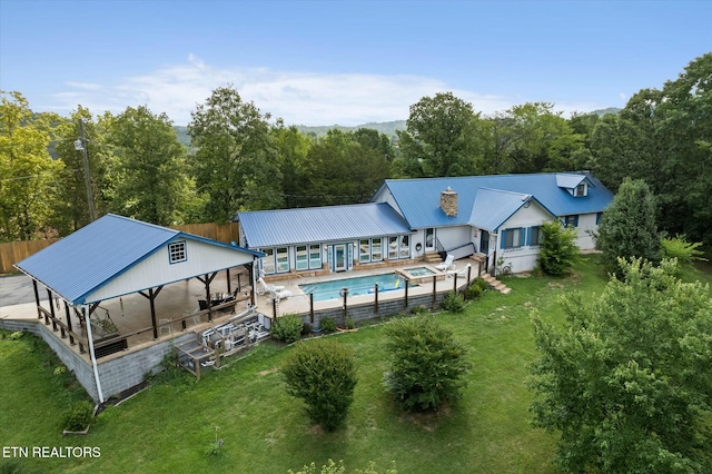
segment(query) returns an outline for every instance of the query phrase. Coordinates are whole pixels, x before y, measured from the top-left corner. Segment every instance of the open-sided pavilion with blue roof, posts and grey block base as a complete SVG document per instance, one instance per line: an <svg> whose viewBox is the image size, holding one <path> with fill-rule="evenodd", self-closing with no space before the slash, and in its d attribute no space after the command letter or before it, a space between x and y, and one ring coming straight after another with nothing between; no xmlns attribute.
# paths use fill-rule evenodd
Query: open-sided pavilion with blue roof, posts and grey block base
<svg viewBox="0 0 712 474"><path fill-rule="evenodd" d="M57 344L57 337L50 340L44 334L42 337L75 371L92 398L101 403L139 384L174 344L195 336L186 332L187 320L195 324L207 317L210 322L216 312L234 308L238 296L248 298L246 303L254 306L255 261L261 256L234 244L109 214L16 264L16 268L32 278L38 318L43 318L44 325L51 325L69 344ZM231 269L247 273L244 288L239 279L238 287L231 287ZM221 271L227 276L226 287L214 283ZM205 288L205 298L195 302L199 307L192 313L171 308L171 314L160 314L156 303L161 290L172 286L174 293L184 292L178 283L188 284L192 278ZM42 306L41 287L47 290L48 307ZM246 293L238 295L243 290ZM132 329L118 334L108 312L102 319L97 309L102 302L118 299L123 313L122 298L129 295L141 295L147 304L129 315ZM176 323L182 330L174 336ZM168 327L171 337L160 337L161 329ZM129 340L139 336L144 336L141 344L129 347ZM102 357L106 361L99 361Z"/></svg>

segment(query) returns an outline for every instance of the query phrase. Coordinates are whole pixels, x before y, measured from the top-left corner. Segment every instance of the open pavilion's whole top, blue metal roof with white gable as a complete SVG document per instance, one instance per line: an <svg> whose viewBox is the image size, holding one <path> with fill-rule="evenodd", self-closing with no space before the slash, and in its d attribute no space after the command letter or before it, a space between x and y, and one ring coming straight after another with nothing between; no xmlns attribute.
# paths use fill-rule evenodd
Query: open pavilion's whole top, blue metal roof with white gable
<svg viewBox="0 0 712 474"><path fill-rule="evenodd" d="M205 263L194 258L190 265L172 266L175 271L170 275L146 275L148 264L140 264L177 240L194 240L201 251L209 248L219 258L207 258ZM251 261L259 256L246 248L109 214L14 266L71 305L78 305L230 268L246 263L246 257ZM160 258L167 261L166 256ZM132 270L135 277L130 275ZM101 298L92 299L98 294Z"/></svg>

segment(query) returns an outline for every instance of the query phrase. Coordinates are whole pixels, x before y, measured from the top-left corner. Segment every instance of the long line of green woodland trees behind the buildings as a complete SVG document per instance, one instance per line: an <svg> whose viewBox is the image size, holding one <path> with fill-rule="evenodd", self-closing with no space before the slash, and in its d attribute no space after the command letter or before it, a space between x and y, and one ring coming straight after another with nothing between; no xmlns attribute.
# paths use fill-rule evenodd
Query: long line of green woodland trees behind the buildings
<svg viewBox="0 0 712 474"><path fill-rule="evenodd" d="M227 221L238 210L367 201L386 178L591 170L614 192L643 179L663 230L712 243L712 53L617 115L527 102L483 116L452 92L411 106L406 129L330 130L273 120L231 86L197 105L190 147L145 106L70 117L0 92L0 240L67 235L89 221L83 121L97 215L158 225ZM190 151L189 151L190 150Z"/></svg>

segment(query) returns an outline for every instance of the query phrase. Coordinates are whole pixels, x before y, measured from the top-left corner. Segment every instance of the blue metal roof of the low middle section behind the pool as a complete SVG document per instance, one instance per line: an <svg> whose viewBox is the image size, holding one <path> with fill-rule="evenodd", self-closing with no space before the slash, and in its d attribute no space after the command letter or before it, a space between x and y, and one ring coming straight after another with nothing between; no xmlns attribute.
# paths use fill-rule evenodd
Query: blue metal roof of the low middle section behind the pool
<svg viewBox="0 0 712 474"><path fill-rule="evenodd" d="M411 234L385 203L241 211L233 220L239 220L250 248Z"/></svg>

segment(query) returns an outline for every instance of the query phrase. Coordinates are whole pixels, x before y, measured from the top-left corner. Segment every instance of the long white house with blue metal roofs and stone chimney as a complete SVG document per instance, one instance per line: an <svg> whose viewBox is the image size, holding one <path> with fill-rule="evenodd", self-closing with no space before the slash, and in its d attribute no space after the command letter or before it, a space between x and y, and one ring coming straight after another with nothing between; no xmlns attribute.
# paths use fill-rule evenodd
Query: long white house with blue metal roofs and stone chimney
<svg viewBox="0 0 712 474"><path fill-rule="evenodd" d="M612 192L587 172L387 179L372 203L240 211L240 245L266 254L265 275L316 275L423 259L479 255L513 271L536 265L540 226L560 219L594 248Z"/></svg>

